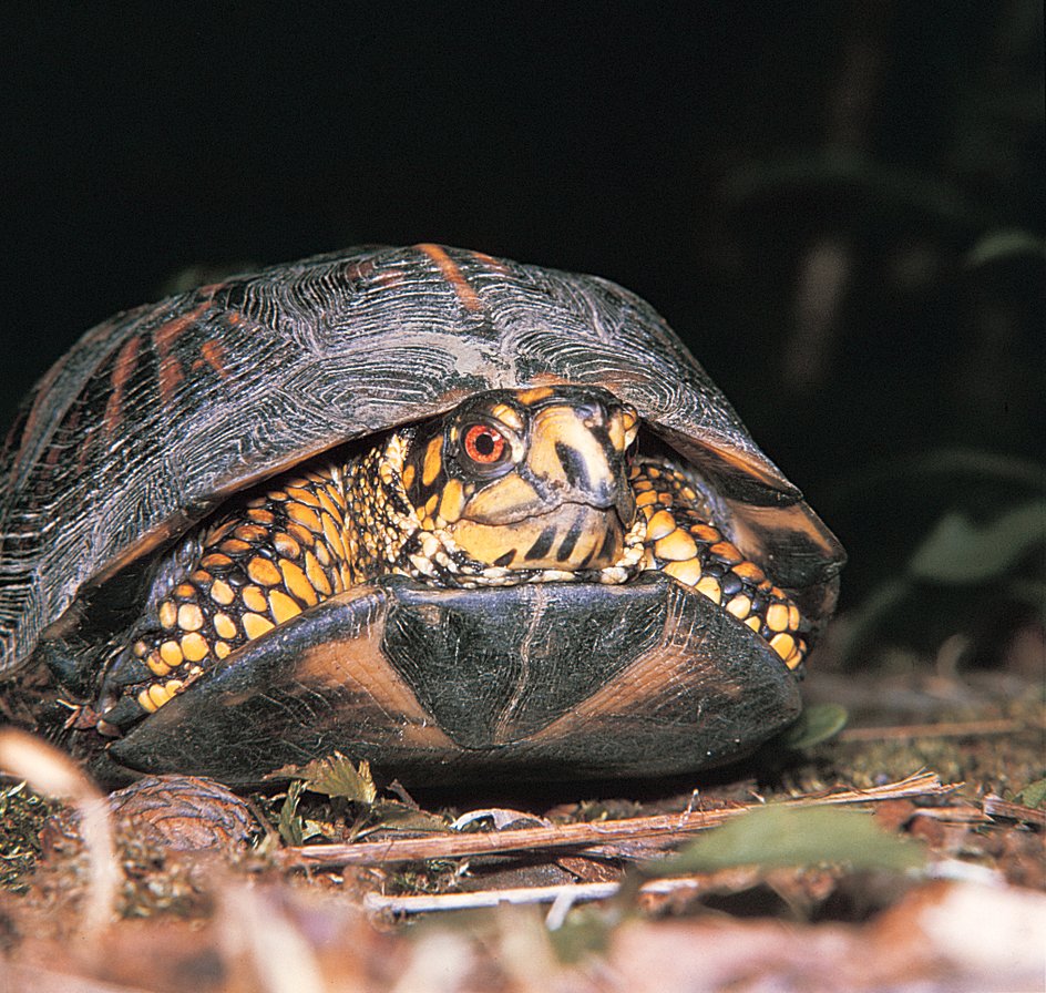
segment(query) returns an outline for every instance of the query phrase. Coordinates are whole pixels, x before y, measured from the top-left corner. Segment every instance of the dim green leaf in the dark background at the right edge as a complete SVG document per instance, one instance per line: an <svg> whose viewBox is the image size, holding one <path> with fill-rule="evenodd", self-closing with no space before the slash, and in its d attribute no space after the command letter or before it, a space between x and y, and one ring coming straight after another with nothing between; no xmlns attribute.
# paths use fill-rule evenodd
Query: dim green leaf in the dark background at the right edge
<svg viewBox="0 0 1046 993"><path fill-rule="evenodd" d="M982 583L1011 570L1046 542L1046 504L1015 506L977 526L958 511L945 514L909 562L915 579L936 583Z"/></svg>

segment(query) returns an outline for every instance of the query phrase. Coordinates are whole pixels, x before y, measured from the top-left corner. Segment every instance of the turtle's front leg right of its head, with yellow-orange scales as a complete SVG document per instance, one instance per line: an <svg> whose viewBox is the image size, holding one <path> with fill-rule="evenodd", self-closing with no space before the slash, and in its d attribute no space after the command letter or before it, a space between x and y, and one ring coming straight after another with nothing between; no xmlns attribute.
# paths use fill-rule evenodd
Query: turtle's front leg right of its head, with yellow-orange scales
<svg viewBox="0 0 1046 993"><path fill-rule="evenodd" d="M645 567L720 604L761 635L789 668L802 662L799 608L722 533L687 477L664 459L637 459L630 480L647 521Z"/></svg>

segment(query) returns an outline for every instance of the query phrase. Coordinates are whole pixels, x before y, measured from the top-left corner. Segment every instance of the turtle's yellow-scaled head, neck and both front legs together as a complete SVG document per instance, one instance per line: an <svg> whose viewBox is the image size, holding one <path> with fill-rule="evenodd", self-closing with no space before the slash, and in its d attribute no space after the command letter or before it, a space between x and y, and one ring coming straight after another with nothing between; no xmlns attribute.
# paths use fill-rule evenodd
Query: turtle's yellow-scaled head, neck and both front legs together
<svg viewBox="0 0 1046 993"><path fill-rule="evenodd" d="M453 587L660 570L796 668L799 611L709 522L684 471L633 459L637 430L635 411L603 391L493 391L277 480L207 530L115 657L100 727L156 710L246 642L390 573Z"/></svg>

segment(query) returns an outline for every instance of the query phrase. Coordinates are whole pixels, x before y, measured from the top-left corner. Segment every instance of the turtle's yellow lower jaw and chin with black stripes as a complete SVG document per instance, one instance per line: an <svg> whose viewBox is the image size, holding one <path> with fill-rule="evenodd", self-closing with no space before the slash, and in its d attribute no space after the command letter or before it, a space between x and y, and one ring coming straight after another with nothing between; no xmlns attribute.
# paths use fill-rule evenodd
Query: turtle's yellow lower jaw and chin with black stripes
<svg viewBox="0 0 1046 993"><path fill-rule="evenodd" d="M561 503L547 513L509 524L462 519L448 530L479 562L511 570L578 572L615 564L627 529L614 508Z"/></svg>

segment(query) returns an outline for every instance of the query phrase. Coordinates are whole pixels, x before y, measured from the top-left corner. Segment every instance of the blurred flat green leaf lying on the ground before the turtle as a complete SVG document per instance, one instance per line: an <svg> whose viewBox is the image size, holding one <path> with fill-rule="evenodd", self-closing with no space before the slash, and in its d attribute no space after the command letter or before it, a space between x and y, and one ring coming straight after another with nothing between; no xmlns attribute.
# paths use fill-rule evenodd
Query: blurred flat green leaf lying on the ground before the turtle
<svg viewBox="0 0 1046 993"><path fill-rule="evenodd" d="M737 866L821 866L903 871L922 866L922 848L882 830L871 815L833 807L770 805L741 815L648 866L655 876L715 872Z"/></svg>

